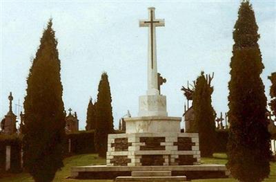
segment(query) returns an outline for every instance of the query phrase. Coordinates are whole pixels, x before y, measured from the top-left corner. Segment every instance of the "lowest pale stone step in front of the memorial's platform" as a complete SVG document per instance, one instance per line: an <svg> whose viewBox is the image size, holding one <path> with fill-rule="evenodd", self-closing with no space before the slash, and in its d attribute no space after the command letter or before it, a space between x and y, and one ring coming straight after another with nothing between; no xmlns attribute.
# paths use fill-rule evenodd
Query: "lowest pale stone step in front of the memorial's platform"
<svg viewBox="0 0 276 182"><path fill-rule="evenodd" d="M115 181L186 181L186 176L118 176Z"/></svg>

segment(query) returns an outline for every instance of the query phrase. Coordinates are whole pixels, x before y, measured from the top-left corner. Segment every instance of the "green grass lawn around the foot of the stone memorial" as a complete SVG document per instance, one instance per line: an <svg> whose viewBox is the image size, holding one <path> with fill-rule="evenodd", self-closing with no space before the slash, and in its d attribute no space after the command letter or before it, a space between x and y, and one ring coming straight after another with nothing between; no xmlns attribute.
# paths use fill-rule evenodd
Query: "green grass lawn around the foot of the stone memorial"
<svg viewBox="0 0 276 182"><path fill-rule="evenodd" d="M201 163L215 163L215 164L226 164L226 154L214 154L213 158L201 158ZM80 180L80 179L66 179L70 176L70 168L72 166L81 165L102 165L106 163L106 159L99 158L97 154L82 154L77 156L70 156L63 161L64 167L61 171L58 171L54 181L94 181L94 182L111 182L112 180ZM5 178L0 179L1 182L33 182L32 177L28 173L10 174ZM204 179L204 180L193 180L193 182L237 182L235 179ZM266 179L265 182L276 181L276 163L270 163L270 178Z"/></svg>

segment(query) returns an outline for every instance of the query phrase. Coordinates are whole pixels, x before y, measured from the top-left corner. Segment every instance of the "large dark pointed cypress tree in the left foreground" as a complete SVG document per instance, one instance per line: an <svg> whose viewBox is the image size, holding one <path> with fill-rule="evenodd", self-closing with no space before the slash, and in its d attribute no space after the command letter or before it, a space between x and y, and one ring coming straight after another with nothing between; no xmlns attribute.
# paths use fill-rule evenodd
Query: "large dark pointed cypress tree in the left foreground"
<svg viewBox="0 0 276 182"><path fill-rule="evenodd" d="M23 103L23 160L34 181L52 181L55 172L63 167L65 115L60 70L50 19L30 68Z"/></svg>

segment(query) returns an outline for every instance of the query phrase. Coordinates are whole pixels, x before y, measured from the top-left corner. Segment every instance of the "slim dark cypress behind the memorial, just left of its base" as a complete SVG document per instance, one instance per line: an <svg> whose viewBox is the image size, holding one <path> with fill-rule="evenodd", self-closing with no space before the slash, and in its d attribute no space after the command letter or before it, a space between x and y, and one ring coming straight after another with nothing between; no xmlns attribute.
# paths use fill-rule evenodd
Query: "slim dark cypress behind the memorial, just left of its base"
<svg viewBox="0 0 276 182"><path fill-rule="evenodd" d="M99 156L105 157L108 145L108 134L113 133L112 99L106 72L101 75L98 91L94 143Z"/></svg>

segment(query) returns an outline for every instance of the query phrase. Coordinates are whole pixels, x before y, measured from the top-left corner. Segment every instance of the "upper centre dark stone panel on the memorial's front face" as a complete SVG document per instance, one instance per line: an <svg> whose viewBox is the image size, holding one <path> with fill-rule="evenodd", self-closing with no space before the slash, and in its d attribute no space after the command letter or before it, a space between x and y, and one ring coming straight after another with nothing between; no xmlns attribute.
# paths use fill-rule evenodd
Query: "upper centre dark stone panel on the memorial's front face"
<svg viewBox="0 0 276 182"><path fill-rule="evenodd" d="M140 143L145 143L140 146L140 150L165 150L166 146L161 146L161 142L165 142L165 137L141 137Z"/></svg>

